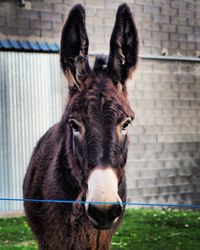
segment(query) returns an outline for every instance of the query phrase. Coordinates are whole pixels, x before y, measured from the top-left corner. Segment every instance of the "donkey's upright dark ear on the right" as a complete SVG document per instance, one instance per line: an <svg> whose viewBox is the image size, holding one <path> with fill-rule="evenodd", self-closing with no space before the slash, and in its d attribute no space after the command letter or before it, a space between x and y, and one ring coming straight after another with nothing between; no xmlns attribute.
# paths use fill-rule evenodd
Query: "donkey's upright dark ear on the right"
<svg viewBox="0 0 200 250"><path fill-rule="evenodd" d="M110 39L110 54L107 72L114 83L121 83L131 77L138 59L138 34L132 13L126 4L119 6Z"/></svg>

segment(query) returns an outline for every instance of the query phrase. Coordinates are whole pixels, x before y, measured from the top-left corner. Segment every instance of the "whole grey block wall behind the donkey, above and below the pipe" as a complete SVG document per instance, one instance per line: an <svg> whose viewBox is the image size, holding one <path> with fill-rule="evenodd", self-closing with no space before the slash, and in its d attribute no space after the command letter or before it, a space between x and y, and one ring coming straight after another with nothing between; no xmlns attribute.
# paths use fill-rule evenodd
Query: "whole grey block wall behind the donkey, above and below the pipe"
<svg viewBox="0 0 200 250"><path fill-rule="evenodd" d="M90 52L107 52L122 0L0 1L0 38L59 42L70 8L87 12ZM140 53L196 56L200 52L200 2L126 0L135 12ZM130 130L128 199L200 202L200 64L141 60L129 84L136 112Z"/></svg>

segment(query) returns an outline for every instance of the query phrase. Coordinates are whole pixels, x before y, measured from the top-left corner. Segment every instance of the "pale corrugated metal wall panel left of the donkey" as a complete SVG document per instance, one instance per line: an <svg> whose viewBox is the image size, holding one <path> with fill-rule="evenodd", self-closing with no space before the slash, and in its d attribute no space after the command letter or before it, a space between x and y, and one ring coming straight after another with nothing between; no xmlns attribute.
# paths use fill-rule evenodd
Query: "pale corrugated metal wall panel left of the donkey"
<svg viewBox="0 0 200 250"><path fill-rule="evenodd" d="M0 52L0 197L22 197L37 140L62 113L58 54ZM0 202L0 212L23 204Z"/></svg>

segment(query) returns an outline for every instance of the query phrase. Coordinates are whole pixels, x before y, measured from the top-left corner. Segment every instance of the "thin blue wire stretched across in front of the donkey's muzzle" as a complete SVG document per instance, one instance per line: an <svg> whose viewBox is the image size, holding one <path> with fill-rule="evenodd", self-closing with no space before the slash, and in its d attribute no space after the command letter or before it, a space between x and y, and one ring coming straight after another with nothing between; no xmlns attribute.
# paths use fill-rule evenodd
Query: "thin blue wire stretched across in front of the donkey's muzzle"
<svg viewBox="0 0 200 250"><path fill-rule="evenodd" d="M114 205L121 204L127 206L149 206L149 207L179 207L179 208L191 208L200 209L200 205L192 204L155 204L155 203L139 203L139 202L99 202L99 201L81 201L81 200L37 200L37 199L18 199L18 198L0 198L0 201L18 201L18 202L43 202L43 203L79 203L79 204L93 204L93 205Z"/></svg>

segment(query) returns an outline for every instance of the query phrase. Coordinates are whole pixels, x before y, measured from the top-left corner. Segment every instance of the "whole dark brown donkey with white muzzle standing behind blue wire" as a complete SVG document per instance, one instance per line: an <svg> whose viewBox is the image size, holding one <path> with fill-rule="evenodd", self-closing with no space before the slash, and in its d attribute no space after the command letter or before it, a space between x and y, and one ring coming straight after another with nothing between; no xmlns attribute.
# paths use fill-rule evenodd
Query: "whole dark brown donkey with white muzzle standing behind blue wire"
<svg viewBox="0 0 200 250"><path fill-rule="evenodd" d="M126 201L127 128L134 119L126 81L135 71L138 36L129 7L119 6L108 58L88 62L85 10L75 5L61 36L60 62L69 97L59 123L37 143L25 175L25 202L42 250L110 249ZM95 203L100 202L100 203Z"/></svg>

